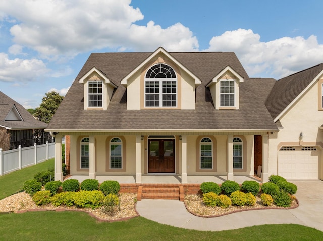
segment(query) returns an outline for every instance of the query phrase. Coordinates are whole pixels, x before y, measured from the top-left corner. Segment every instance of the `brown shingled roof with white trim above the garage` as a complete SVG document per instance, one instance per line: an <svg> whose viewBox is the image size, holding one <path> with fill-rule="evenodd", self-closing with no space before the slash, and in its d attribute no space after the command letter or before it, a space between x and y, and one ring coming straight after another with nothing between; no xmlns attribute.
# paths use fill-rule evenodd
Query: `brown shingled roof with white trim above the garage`
<svg viewBox="0 0 323 241"><path fill-rule="evenodd" d="M323 63L279 79L266 101L266 107L274 121L277 121L321 74Z"/></svg>

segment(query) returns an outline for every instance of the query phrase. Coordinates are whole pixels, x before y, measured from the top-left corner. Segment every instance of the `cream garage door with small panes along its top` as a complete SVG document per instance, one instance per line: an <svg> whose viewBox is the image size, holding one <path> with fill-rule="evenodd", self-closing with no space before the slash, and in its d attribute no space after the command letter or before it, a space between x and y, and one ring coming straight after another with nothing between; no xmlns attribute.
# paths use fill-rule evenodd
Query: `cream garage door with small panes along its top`
<svg viewBox="0 0 323 241"><path fill-rule="evenodd" d="M278 175L290 180L318 179L319 152L316 147L282 147Z"/></svg>

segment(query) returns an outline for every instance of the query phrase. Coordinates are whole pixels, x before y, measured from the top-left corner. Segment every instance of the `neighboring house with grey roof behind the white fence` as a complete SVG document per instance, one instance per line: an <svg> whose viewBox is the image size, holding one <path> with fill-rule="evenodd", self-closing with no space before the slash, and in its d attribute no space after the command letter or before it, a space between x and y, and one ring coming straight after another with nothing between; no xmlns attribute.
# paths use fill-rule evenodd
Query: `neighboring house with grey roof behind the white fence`
<svg viewBox="0 0 323 241"><path fill-rule="evenodd" d="M22 105L0 91L0 128L10 133L10 149L51 143L47 124L36 120Z"/></svg>

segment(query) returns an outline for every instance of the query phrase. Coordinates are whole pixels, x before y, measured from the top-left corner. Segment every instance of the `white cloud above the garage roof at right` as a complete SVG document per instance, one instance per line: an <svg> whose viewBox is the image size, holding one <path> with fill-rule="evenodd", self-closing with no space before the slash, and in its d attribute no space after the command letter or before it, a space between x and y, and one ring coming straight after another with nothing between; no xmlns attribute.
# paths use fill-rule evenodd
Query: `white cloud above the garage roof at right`
<svg viewBox="0 0 323 241"><path fill-rule="evenodd" d="M314 35L261 42L252 30L238 29L213 37L207 51L235 52L254 77L280 78L323 62L323 45Z"/></svg>

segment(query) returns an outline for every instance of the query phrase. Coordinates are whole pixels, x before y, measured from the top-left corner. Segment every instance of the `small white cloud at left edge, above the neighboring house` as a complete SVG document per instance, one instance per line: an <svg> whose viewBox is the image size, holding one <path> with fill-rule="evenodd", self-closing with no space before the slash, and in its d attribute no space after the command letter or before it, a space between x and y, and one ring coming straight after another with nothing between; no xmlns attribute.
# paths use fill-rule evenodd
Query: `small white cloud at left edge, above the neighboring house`
<svg viewBox="0 0 323 241"><path fill-rule="evenodd" d="M39 59L9 59L6 53L0 53L0 81L35 81L49 71Z"/></svg>

